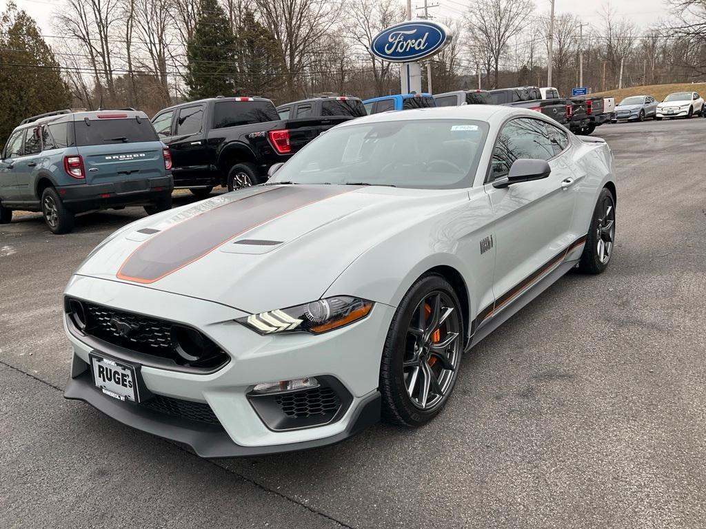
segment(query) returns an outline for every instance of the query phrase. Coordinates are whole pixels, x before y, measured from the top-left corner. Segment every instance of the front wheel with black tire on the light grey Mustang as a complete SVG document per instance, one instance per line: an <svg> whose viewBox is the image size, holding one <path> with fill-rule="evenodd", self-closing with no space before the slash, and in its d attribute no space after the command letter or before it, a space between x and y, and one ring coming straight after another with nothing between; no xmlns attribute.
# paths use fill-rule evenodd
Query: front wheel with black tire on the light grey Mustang
<svg viewBox="0 0 706 529"><path fill-rule="evenodd" d="M440 300L437 314L445 312L445 308L453 308L448 317L438 327L439 331L431 332L434 316L429 308L429 313L426 312L426 300ZM433 301L431 301L433 303ZM444 305L441 305L443 303ZM425 317L429 318L425 322L419 324L420 311L424 312ZM415 335L410 330L412 322L417 321L415 327L426 327L426 333L421 332ZM427 324L429 326L427 327ZM443 327L443 335L441 329ZM464 322L461 305L458 300L453 286L438 274L427 274L421 276L417 282L409 288L409 291L402 298L400 306L395 311L395 316L390 324L383 355L380 365L380 380L379 389L382 395L382 415L388 422L393 422L397 425L416 427L421 426L432 418L436 417L448 402L448 398L455 386L460 358L464 347ZM453 334L458 332L457 337ZM431 334L430 334L431 333ZM422 335L428 335L431 339L425 342L426 346L417 348L416 343L424 342ZM416 337L415 337L416 336ZM433 338L431 338L433 336ZM410 339L412 342L410 343ZM439 343L446 339L453 341L446 347L447 354L441 360L441 355L432 353L429 349L429 344ZM453 348L453 352L449 350ZM412 358L409 358L409 357ZM417 358L416 360L414 358ZM403 363L414 363L412 367L405 367ZM423 365L426 364L426 365ZM447 369L445 366L453 365L453 369ZM417 367L418 366L418 367ZM436 367L434 367L436 366ZM417 369L417 375L412 378L409 372L409 383L412 390L410 393L407 389L407 379L405 379L405 369ZM436 375L436 369L439 373ZM429 407L424 408L424 403L419 403L421 391L426 380L425 373L432 373L436 379L436 387L441 391L427 391L424 397L424 403L428 397L433 398L429 401ZM420 375L421 373L421 375ZM433 387L434 384L429 384ZM417 391L415 391L417 390ZM414 394L417 393L417 398ZM414 399L414 401L413 401Z"/></svg>

